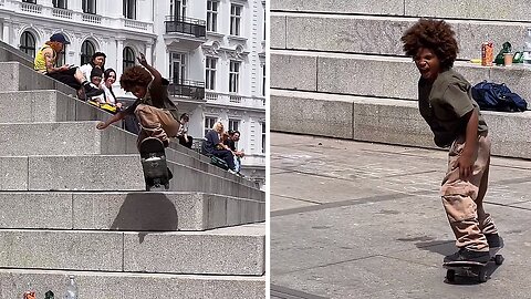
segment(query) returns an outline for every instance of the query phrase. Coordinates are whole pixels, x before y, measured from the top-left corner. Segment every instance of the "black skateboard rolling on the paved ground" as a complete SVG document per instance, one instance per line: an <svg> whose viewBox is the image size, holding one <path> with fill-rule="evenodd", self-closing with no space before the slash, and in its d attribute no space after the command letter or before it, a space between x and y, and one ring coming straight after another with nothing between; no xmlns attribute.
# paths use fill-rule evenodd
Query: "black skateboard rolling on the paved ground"
<svg viewBox="0 0 531 299"><path fill-rule="evenodd" d="M503 248L503 241L500 239L501 246L490 248L489 255L490 260L487 262L477 262L477 261L450 261L444 262L442 267L446 270L446 280L448 282L454 282L456 276L473 277L477 278L479 282L486 282L488 279L487 266L491 262L496 265L503 264L503 256L498 255L498 251Z"/></svg>

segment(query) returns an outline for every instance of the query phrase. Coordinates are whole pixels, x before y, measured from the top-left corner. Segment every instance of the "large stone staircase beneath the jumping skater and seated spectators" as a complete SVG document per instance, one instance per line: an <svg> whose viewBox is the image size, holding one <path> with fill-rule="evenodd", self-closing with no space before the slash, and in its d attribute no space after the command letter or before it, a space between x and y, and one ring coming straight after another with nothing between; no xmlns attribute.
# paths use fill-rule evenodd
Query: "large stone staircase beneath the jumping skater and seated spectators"
<svg viewBox="0 0 531 299"><path fill-rule="evenodd" d="M0 299L264 298L266 196L171 143L144 192L136 136L0 43Z"/></svg>

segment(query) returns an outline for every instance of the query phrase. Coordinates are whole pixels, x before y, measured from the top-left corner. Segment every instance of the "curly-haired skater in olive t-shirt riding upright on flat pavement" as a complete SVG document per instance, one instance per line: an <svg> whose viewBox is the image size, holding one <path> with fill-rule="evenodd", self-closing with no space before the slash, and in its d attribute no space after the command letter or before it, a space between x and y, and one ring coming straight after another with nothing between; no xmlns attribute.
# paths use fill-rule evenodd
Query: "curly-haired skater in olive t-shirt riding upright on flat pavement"
<svg viewBox="0 0 531 299"><path fill-rule="evenodd" d="M449 147L440 194L458 251L448 261L487 262L489 247L499 247L498 229L483 208L490 138L470 83L452 66L458 45L445 21L420 19L402 37L404 52L419 73L418 107L439 147Z"/></svg>

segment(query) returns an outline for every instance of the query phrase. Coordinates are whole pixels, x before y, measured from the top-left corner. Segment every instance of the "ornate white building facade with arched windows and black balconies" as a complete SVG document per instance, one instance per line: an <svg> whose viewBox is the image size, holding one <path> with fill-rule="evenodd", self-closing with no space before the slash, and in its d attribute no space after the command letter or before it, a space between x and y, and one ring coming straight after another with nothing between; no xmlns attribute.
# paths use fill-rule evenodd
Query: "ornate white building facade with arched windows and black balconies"
<svg viewBox="0 0 531 299"><path fill-rule="evenodd" d="M71 42L62 63L104 52L118 78L145 53L190 114L190 135L201 140L218 120L240 131L242 173L263 185L264 18L262 0L0 0L0 38L34 56L61 32ZM132 99L118 83L114 90Z"/></svg>

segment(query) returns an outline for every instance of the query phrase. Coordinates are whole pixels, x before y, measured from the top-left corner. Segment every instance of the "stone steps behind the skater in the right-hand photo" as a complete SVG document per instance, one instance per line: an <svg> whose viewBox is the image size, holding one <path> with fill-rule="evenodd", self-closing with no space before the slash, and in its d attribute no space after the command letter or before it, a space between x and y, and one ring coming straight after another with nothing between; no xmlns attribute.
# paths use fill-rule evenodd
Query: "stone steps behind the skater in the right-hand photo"
<svg viewBox="0 0 531 299"><path fill-rule="evenodd" d="M481 43L494 53L522 50L531 2L271 1L271 130L434 147L417 111L418 71L399 38L419 17L446 19L460 52L456 69L472 84L506 83L528 100L531 68L480 66ZM531 112L483 112L492 153L531 158Z"/></svg>

